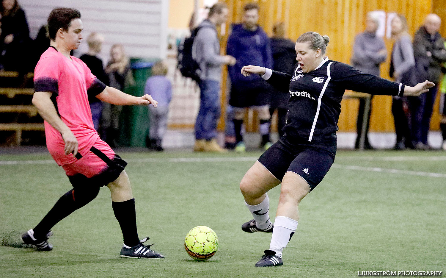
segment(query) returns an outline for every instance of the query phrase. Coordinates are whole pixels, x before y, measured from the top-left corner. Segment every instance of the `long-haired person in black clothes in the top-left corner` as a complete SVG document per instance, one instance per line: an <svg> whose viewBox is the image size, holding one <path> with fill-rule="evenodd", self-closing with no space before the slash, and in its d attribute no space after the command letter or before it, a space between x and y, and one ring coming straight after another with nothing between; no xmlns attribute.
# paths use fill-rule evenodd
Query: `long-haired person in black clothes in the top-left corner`
<svg viewBox="0 0 446 278"><path fill-rule="evenodd" d="M2 0L0 5L0 69L28 71L29 28L25 11L17 0Z"/></svg>

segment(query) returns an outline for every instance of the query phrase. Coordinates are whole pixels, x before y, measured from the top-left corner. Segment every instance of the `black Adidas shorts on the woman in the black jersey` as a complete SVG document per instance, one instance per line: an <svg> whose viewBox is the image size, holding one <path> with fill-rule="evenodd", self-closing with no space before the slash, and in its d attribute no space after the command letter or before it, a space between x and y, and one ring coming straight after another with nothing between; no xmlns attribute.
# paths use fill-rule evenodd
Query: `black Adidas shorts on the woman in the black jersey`
<svg viewBox="0 0 446 278"><path fill-rule="evenodd" d="M330 170L335 158L329 150L308 144L292 146L281 138L258 161L280 181L288 171L298 174L312 191Z"/></svg>

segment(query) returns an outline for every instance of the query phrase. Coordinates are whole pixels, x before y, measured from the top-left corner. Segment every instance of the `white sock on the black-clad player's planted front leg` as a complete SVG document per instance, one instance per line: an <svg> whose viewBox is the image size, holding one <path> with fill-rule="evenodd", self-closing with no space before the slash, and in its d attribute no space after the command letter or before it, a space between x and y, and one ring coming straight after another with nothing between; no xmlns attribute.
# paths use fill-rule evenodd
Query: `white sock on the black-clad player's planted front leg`
<svg viewBox="0 0 446 278"><path fill-rule="evenodd" d="M276 216L274 220L273 237L269 244L269 250L282 257L282 251L288 244L297 229L297 221L286 216Z"/></svg>

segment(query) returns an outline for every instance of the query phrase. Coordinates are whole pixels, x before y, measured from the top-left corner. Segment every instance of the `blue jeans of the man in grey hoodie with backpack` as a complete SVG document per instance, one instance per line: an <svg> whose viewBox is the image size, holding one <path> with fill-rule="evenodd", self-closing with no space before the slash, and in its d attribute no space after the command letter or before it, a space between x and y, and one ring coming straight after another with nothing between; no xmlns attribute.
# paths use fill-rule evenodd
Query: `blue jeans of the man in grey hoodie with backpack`
<svg viewBox="0 0 446 278"><path fill-rule="evenodd" d="M220 117L220 83L215 80L201 80L200 109L195 122L195 138L211 140L217 137L217 120Z"/></svg>

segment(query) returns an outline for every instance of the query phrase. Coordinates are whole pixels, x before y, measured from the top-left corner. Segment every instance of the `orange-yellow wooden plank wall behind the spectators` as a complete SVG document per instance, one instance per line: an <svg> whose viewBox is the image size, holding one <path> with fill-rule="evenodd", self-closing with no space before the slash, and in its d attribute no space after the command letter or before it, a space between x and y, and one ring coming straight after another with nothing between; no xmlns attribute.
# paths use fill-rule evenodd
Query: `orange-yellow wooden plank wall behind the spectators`
<svg viewBox="0 0 446 278"><path fill-rule="evenodd" d="M224 0L230 9L230 21L238 23L242 19L243 6L249 2L260 5L259 24L268 35L277 22L284 22L286 35L292 40L307 31L315 31L330 37L327 55L330 59L350 63L355 35L363 32L367 12L382 10L405 15L409 33L413 34L422 24L424 17L436 11L446 21L446 0ZM442 33L446 32L446 22L442 24ZM227 35L223 38L226 42ZM385 39L388 59L381 66L381 76L389 78L388 69L392 41ZM222 46L224 49L226 46ZM226 75L225 75L226 76ZM225 87L225 86L223 86ZM223 97L223 102L226 96ZM392 132L392 98L376 96L372 101L371 131ZM339 117L339 129L356 130L358 100L343 100ZM224 115L224 114L223 114ZM433 115L434 129L438 128L438 109ZM220 123L220 126L223 121Z"/></svg>

